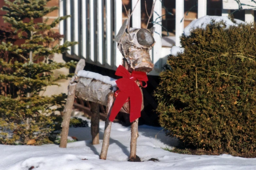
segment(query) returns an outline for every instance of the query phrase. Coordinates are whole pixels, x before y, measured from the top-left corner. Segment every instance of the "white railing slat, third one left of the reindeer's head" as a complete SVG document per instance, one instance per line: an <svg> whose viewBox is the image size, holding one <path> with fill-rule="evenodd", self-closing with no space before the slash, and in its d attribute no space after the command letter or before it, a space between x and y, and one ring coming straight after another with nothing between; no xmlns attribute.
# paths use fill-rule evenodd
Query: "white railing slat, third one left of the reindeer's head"
<svg viewBox="0 0 256 170"><path fill-rule="evenodd" d="M105 64L104 57L104 16L103 16L103 0L97 0L97 61L100 64ZM103 63L104 61L104 63Z"/></svg>

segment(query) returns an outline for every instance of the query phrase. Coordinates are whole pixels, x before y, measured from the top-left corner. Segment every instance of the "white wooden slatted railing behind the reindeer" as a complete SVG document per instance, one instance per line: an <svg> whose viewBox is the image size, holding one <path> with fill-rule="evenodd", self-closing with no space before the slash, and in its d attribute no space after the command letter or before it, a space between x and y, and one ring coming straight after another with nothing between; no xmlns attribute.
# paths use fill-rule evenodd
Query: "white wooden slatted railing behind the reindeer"
<svg viewBox="0 0 256 170"><path fill-rule="evenodd" d="M134 7L137 0L131 1L132 7ZM60 0L59 3L60 16L72 16L60 22L60 34L65 37L61 44L65 40L79 42L78 45L70 48L67 56L75 59L84 58L87 63L116 70L122 63L122 55L114 41L114 37L122 25L122 1ZM207 14L206 7L207 0L198 0L198 18ZM132 27L134 28L141 27L141 8L138 3L132 14ZM184 30L184 0L176 0L176 9L176 46L180 46L179 36ZM227 15L228 10L223 9L222 14ZM162 19L160 16L162 16L162 3L157 0L153 20L157 20L159 24L154 25L156 27L154 34L156 44L150 51L155 68L150 75L159 75L163 64L166 63L166 56L170 54L170 48L162 47L162 37L160 36L162 35ZM247 10L246 21L252 20L254 20L253 12Z"/></svg>

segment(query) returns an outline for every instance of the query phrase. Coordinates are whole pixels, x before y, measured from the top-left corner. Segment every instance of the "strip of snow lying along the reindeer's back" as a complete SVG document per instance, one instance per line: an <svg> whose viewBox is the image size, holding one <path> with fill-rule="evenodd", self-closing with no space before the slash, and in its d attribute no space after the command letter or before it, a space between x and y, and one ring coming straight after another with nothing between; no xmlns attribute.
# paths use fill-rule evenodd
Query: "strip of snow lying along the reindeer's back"
<svg viewBox="0 0 256 170"><path fill-rule="evenodd" d="M85 77L85 78L94 78L96 80L100 80L106 84L112 85L112 87L116 86L116 79L111 78L109 76L102 76L101 74L94 73L91 71L85 71L85 70L80 70L77 73L77 76L79 77Z"/></svg>

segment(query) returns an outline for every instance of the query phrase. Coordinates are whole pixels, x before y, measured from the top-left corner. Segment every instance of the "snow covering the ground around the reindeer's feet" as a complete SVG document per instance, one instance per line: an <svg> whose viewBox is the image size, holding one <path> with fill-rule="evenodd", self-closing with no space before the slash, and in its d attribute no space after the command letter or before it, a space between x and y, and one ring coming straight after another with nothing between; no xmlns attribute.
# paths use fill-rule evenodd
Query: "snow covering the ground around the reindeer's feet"
<svg viewBox="0 0 256 170"><path fill-rule="evenodd" d="M88 121L90 120L80 117ZM162 128L139 126L137 155L144 162L128 162L130 127L112 123L107 160L100 160L105 122L100 122L100 144L91 145L90 127L70 128L69 136L79 141L67 148L49 144L43 146L0 145L0 170L254 170L256 158L185 155L166 151L177 146L177 139L165 136ZM157 136L156 136L157 135ZM156 158L159 161L148 161ZM87 159L87 160L83 160Z"/></svg>

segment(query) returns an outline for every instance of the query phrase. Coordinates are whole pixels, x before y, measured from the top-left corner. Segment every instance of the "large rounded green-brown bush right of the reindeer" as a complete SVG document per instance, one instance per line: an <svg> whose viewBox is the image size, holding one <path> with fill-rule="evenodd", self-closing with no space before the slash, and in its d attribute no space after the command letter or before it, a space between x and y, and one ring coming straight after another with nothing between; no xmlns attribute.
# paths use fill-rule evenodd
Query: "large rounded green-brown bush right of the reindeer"
<svg viewBox="0 0 256 170"><path fill-rule="evenodd" d="M255 152L256 28L214 23L181 44L185 52L168 58L155 92L167 135L194 149Z"/></svg>

